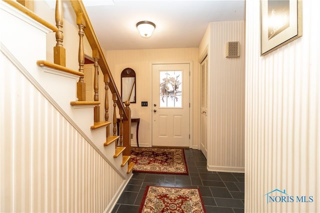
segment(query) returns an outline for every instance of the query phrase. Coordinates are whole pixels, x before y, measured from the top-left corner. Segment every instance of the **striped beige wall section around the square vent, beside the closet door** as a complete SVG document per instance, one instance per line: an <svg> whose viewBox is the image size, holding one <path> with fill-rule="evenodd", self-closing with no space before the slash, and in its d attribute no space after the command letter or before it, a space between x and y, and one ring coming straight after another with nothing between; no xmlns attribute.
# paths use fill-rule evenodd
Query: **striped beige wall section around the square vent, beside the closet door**
<svg viewBox="0 0 320 213"><path fill-rule="evenodd" d="M207 167L244 172L244 21L211 22L209 28ZM239 41L240 57L225 57L229 41Z"/></svg>

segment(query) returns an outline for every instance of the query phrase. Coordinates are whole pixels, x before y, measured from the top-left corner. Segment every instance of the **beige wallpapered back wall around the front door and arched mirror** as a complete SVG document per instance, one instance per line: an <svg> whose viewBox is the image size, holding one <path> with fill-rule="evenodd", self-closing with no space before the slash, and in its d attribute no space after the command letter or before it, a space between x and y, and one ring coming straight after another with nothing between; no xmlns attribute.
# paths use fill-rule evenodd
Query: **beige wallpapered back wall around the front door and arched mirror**
<svg viewBox="0 0 320 213"><path fill-rule="evenodd" d="M190 146L197 148L199 134L199 120L195 114L199 113L199 67L198 48L174 48L174 49L140 49L140 50L113 50L106 51L105 57L112 72L114 81L120 91L120 73L126 68L132 68L136 73L136 104L131 104L131 117L139 117L139 145L151 146L151 64L152 63L179 63L192 62L190 76ZM102 85L102 82L100 83ZM100 86L100 89L104 89ZM192 99L192 97L194 99ZM104 99L104 98L103 98ZM147 101L148 107L141 107L141 101ZM104 110L104 109L103 109ZM101 113L102 114L102 113ZM104 111L103 111L104 114ZM111 115L111 114L110 114ZM132 124L132 146L135 142L136 124Z"/></svg>

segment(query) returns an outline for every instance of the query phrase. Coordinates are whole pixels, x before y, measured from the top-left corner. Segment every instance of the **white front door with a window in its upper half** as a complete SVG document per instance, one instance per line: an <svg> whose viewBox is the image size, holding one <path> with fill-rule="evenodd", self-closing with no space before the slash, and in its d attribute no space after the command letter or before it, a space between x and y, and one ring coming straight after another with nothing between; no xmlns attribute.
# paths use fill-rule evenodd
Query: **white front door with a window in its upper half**
<svg viewBox="0 0 320 213"><path fill-rule="evenodd" d="M152 146L189 147L190 64L152 65Z"/></svg>

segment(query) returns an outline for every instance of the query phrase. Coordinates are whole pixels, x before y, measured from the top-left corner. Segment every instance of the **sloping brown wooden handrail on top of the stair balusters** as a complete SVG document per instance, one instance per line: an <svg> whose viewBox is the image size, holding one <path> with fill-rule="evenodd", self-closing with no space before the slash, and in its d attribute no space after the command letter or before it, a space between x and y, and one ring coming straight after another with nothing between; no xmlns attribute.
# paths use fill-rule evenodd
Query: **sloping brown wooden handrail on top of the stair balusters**
<svg viewBox="0 0 320 213"><path fill-rule="evenodd" d="M108 78L109 78L109 84L108 84L108 87L110 89L110 92L112 94L115 93L115 96L116 96L116 105L119 109L121 109L123 111L123 120L128 120L129 117L125 111L125 107L122 103L122 99L121 99L121 96L120 96L120 93L119 91L117 90L116 88L116 85L115 85L115 82L113 80L113 77L112 77L112 74L111 74L111 71L106 63L106 60L105 60L105 57L104 57L104 54L102 52L102 49L101 49L101 46L98 42L98 39L95 35L95 32L93 30L93 27L92 27L92 24L90 22L90 19L88 17L88 14L86 13L86 10L85 10L85 7L82 3L82 1L80 0L70 0L70 3L72 5L72 8L75 12L75 14L78 14L78 13L82 13L82 18L83 20L85 21L85 28L84 28L84 34L91 46L91 49L96 49L98 54L100 55L100 58L98 60L98 64L100 66L100 69L102 71L102 73L105 75L108 75Z"/></svg>

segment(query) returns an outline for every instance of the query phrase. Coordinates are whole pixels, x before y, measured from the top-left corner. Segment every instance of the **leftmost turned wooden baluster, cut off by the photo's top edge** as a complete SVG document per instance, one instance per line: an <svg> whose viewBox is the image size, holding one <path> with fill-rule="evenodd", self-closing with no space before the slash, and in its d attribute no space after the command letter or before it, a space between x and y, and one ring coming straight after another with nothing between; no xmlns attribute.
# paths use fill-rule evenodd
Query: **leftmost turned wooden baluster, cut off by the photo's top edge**
<svg viewBox="0 0 320 213"><path fill-rule="evenodd" d="M55 25L58 31L55 32L56 44L53 47L53 62L55 64L65 66L65 49L63 47L63 9L62 1L55 1Z"/></svg>

